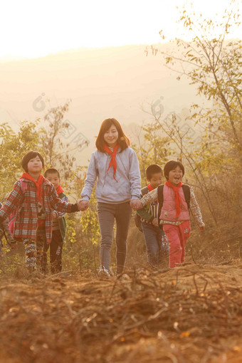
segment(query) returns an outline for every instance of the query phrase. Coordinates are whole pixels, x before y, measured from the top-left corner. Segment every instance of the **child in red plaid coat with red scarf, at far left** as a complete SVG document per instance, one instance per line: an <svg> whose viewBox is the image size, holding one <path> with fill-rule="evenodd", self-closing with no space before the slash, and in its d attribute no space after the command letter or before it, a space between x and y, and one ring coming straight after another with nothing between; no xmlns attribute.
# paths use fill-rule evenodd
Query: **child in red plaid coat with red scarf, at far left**
<svg viewBox="0 0 242 363"><path fill-rule="evenodd" d="M41 175L44 161L39 152L28 152L23 157L22 167L25 172L0 210L0 228L4 219L16 211L13 237L24 243L26 266L33 270L41 267L45 241L51 243L52 209L65 213L79 209L78 204L61 201L53 184Z"/></svg>

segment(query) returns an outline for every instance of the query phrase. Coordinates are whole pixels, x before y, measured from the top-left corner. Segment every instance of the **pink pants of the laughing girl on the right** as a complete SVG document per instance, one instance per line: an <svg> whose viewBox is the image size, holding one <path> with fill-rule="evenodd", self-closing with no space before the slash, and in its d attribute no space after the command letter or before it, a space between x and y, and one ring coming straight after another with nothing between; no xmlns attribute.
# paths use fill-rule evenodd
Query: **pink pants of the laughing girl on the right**
<svg viewBox="0 0 242 363"><path fill-rule="evenodd" d="M190 221L185 221L179 226L163 224L163 231L169 241L169 267L184 262L186 241L191 232Z"/></svg>

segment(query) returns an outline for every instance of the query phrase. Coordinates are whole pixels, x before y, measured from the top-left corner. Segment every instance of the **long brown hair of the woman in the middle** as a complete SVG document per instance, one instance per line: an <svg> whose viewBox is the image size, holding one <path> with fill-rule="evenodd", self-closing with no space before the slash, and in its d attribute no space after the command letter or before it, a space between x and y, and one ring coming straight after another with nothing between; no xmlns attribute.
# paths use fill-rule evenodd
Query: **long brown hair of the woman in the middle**
<svg viewBox="0 0 242 363"><path fill-rule="evenodd" d="M110 127L114 125L118 132L117 143L120 145L121 151L125 150L128 146L130 146L130 140L127 138L125 133L122 131L122 127L120 122L118 122L115 118L106 118L106 120L102 121L102 125L100 127L98 137L96 140L96 147L100 152L105 152L103 147L106 144L104 141L104 134Z"/></svg>

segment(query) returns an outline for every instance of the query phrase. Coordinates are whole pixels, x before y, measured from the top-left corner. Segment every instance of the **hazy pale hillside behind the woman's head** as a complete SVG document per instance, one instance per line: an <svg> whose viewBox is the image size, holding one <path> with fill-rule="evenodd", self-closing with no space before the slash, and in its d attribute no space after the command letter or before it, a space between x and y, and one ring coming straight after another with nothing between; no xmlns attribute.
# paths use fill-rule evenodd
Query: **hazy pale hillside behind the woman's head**
<svg viewBox="0 0 242 363"><path fill-rule="evenodd" d="M197 102L194 87L185 79L177 81L177 74L159 56L147 56L145 47L83 48L0 63L0 122L16 129L21 120L36 120L71 99L68 142L75 142L79 132L90 141L77 155L86 163L106 117L120 120L132 139L132 125L149 121L142 104L157 101L167 115Z"/></svg>

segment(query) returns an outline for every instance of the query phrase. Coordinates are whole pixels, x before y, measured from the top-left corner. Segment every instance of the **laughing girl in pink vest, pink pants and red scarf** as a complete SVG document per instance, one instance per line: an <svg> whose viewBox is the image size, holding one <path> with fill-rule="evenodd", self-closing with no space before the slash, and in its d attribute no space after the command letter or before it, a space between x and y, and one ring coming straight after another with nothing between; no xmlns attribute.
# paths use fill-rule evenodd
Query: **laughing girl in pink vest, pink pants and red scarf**
<svg viewBox="0 0 242 363"><path fill-rule="evenodd" d="M189 206L186 203L182 187L184 184L181 183L183 176L184 166L181 162L170 160L165 164L164 177L166 177L167 181L163 188L163 205L159 216L159 225L162 224L163 231L169 241L170 268L184 262L186 241L191 231L189 209L200 231L203 231L205 227L199 204L191 186L186 186L189 188ZM140 199L138 209L157 200L158 189L154 189Z"/></svg>

